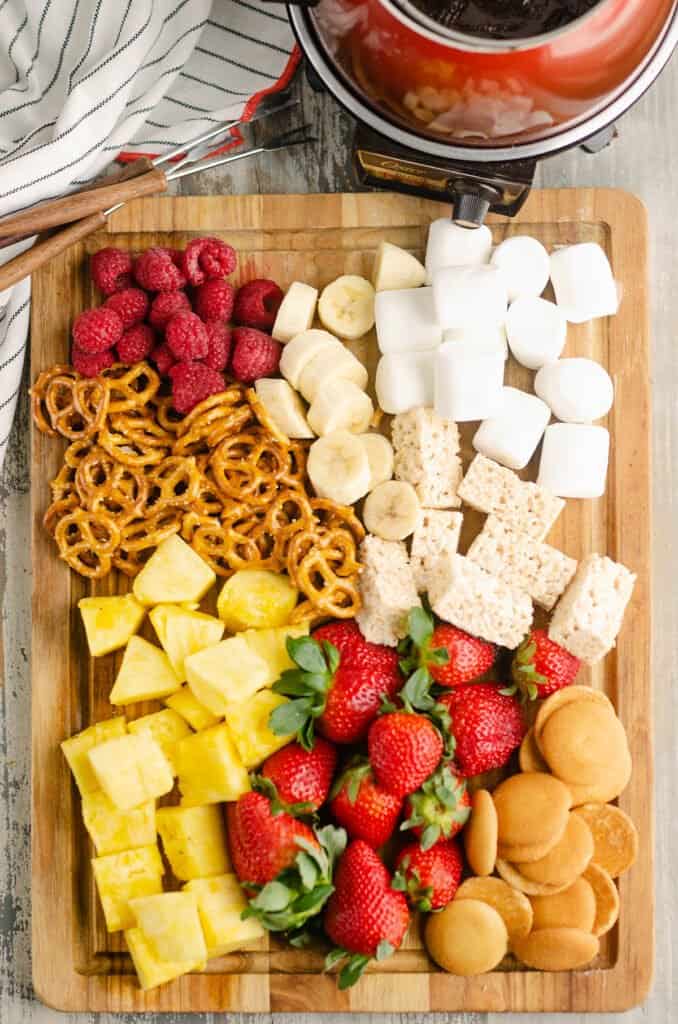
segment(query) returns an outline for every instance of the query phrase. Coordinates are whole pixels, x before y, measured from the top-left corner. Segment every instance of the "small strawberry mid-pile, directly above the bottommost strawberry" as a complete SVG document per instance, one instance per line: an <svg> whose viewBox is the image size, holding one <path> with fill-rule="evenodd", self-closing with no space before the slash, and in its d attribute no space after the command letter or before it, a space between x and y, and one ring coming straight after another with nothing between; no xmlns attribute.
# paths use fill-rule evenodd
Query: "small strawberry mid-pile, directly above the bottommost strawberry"
<svg viewBox="0 0 678 1024"><path fill-rule="evenodd" d="M364 758L353 759L335 782L330 798L330 814L351 839L365 840L377 849L395 831L402 799L375 781Z"/></svg>

